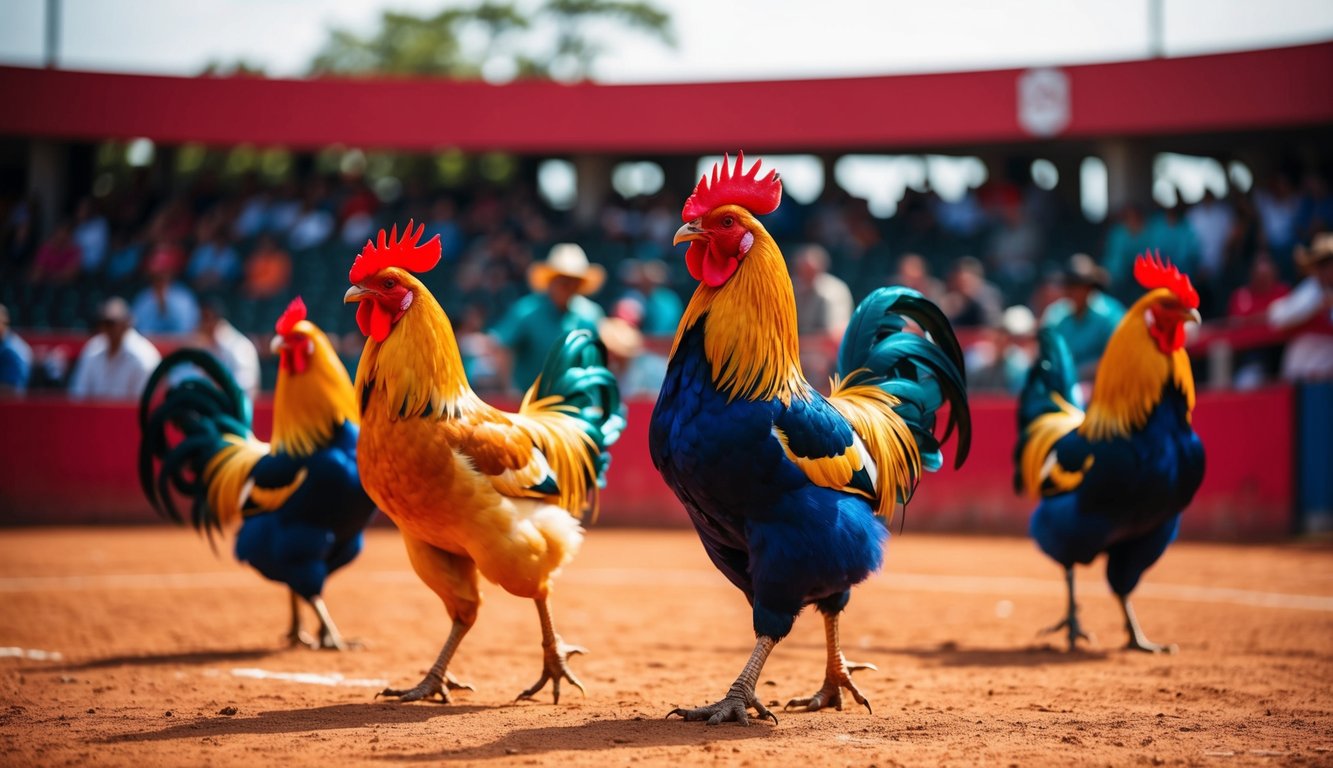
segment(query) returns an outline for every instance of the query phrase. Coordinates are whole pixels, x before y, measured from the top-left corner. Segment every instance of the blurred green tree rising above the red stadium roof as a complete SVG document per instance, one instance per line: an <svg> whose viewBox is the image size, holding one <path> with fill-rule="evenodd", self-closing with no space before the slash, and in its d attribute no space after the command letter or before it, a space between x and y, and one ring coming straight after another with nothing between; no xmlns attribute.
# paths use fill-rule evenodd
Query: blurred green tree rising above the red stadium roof
<svg viewBox="0 0 1333 768"><path fill-rule="evenodd" d="M544 28L555 28L553 47L549 36L543 43ZM596 29L674 45L670 17L651 3L545 0L525 12L515 3L483 1L425 16L385 11L368 36L331 29L311 73L583 80L607 51Z"/></svg>

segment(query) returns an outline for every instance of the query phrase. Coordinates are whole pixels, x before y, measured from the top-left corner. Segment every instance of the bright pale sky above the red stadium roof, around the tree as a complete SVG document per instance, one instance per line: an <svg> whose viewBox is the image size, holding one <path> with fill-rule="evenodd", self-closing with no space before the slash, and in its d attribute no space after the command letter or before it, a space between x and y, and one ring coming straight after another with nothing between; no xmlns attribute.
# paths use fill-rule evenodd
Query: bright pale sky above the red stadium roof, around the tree
<svg viewBox="0 0 1333 768"><path fill-rule="evenodd" d="M656 0L678 47L605 40L615 83L814 77L1137 59L1150 0ZM533 0L519 0L532 5ZM1330 0L1162 0L1170 56L1333 39ZM60 63L197 73L245 59L300 75L329 27L448 0L60 0ZM0 0L0 63L40 64L45 0Z"/></svg>

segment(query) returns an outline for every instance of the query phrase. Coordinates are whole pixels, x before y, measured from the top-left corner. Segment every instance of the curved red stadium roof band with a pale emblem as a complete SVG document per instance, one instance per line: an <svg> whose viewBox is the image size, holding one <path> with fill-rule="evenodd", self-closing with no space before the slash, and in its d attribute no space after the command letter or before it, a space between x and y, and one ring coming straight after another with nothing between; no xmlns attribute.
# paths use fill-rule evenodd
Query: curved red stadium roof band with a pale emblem
<svg viewBox="0 0 1333 768"><path fill-rule="evenodd" d="M1052 69L666 85L0 67L0 135L531 153L964 147L1333 124L1333 43Z"/></svg>

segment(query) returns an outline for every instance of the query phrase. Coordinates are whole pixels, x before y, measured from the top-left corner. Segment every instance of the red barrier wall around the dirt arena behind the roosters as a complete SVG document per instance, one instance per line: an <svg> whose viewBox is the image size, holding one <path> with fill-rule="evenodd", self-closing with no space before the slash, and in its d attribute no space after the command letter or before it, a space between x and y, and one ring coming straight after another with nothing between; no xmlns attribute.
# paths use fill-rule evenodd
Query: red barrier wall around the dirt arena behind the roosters
<svg viewBox="0 0 1333 768"><path fill-rule="evenodd" d="M974 397L972 457L961 471L926 476L906 515L910 531L1021 533L1032 503L1010 489L1013 400ZM613 451L601 521L686 525L688 517L648 457L652 403L632 403ZM1208 449L1204 487L1184 536L1253 540L1285 536L1293 509L1293 396L1285 387L1202 393L1194 425ZM60 399L0 403L0 523L152 521L136 475L139 427L125 404ZM268 435L272 408L256 407ZM897 529L898 520L894 520Z"/></svg>

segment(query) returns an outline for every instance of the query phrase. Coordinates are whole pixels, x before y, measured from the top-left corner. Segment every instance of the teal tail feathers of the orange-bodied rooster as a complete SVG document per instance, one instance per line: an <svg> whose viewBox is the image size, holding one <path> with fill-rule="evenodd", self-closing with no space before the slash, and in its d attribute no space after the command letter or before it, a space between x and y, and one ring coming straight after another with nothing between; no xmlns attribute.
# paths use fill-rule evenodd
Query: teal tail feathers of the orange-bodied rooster
<svg viewBox="0 0 1333 768"><path fill-rule="evenodd" d="M608 448L625 428L616 375L607 368L607 347L591 331L571 331L547 355L537 379L537 399L559 396L563 405L584 423L584 432L597 444L597 485L605 487L611 467Z"/></svg>

